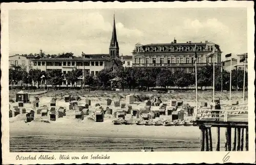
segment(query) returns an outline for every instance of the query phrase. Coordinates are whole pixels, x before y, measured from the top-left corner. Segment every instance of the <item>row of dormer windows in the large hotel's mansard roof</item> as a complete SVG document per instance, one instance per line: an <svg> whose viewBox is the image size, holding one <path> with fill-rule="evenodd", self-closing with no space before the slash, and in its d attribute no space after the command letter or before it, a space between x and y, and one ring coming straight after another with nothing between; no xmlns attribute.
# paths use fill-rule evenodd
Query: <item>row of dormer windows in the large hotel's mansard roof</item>
<svg viewBox="0 0 256 165"><path fill-rule="evenodd" d="M169 47L169 48L165 48L165 47L160 47L160 48L157 48L157 47L146 47L145 48L145 52L150 52L152 50L152 52L157 52L157 51L160 51L160 52L164 52L164 51L168 51L168 52L183 52L183 51L191 51L193 50L194 48L191 47L191 46L178 46L178 47ZM208 51L213 51L214 49L214 46L213 45L209 45L208 48L206 50ZM197 46L197 51L202 51L202 46ZM142 52L143 49L141 47L138 47L137 48L137 52ZM194 50L195 51L195 50Z"/></svg>

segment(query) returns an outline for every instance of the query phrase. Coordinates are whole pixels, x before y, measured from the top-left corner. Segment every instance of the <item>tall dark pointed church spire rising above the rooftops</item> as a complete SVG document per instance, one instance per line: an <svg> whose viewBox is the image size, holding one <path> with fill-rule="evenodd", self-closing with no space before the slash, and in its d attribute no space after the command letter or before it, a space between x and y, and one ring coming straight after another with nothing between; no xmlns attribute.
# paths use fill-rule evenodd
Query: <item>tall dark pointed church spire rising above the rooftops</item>
<svg viewBox="0 0 256 165"><path fill-rule="evenodd" d="M115 13L114 13L112 38L111 38L111 41L110 41L110 48L109 49L110 49L110 57L119 58L119 46L118 46L117 35L116 35Z"/></svg>

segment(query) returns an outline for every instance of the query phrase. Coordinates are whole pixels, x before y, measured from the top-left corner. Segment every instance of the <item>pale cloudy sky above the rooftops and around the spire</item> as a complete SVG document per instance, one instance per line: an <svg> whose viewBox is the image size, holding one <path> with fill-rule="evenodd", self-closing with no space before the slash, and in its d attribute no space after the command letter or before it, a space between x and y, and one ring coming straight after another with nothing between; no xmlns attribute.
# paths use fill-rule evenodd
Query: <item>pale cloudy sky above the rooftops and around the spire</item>
<svg viewBox="0 0 256 165"><path fill-rule="evenodd" d="M114 9L13 10L9 52L109 53ZM223 55L247 52L246 8L115 9L120 55L136 43L212 41Z"/></svg>

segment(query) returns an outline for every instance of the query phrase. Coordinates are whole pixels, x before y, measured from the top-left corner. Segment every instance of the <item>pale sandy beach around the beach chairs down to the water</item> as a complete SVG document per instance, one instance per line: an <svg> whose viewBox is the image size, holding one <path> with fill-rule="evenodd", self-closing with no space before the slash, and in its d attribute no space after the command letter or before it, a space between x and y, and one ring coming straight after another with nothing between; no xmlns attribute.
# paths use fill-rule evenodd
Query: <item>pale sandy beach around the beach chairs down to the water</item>
<svg viewBox="0 0 256 165"><path fill-rule="evenodd" d="M50 104L52 97L42 96L40 97L39 106ZM99 103L103 108L106 107L106 97L81 97L81 101L85 102L85 99L91 99L92 105L89 107L90 111L94 111L95 104ZM164 99L163 99L164 100ZM167 99L166 99L167 100ZM121 102L125 101L125 98L121 98ZM186 102L188 100L184 100ZM225 100L224 100L225 101ZM165 101L168 103L167 101ZM210 100L209 100L210 102ZM17 103L10 103L11 109ZM144 106L144 103L131 104L133 108L139 108ZM31 104L25 104L25 108L31 107ZM84 116L84 120L78 120L74 117L73 110L69 110L69 103L66 103L63 99L56 101L56 107L63 106L67 109L67 115L63 118L57 118L56 121L50 121L50 117L41 116L35 114L34 121L25 123L26 114L19 114L10 118L10 136L15 136L17 140L22 136L40 136L40 137L68 137L68 138L112 138L112 139L143 139L143 140L184 140L186 143L194 142L196 150L200 147L200 130L195 126L138 126L134 125L113 125L113 116L105 116L104 122L96 123L87 116ZM50 107L50 106L49 106ZM109 106L115 109L115 107ZM187 117L187 116L185 116ZM191 117L188 119L191 120ZM48 121L49 123L42 122ZM215 132L216 128L212 128L212 132ZM212 133L212 141L215 143L216 133ZM11 138L12 140L12 138ZM225 130L221 129L221 143L225 140ZM95 141L95 140L94 140ZM118 143L120 143L118 141ZM132 142L133 143L133 142ZM12 143L13 144L13 143ZM147 144L143 142L143 144ZM15 146L15 144L13 144ZM141 144L140 144L141 145ZM15 147L14 147L15 148ZM164 149L161 149L165 151ZM195 149L191 149L195 150ZM95 151L92 149L91 151ZM99 150L100 151L100 150ZM123 151L123 150L121 150ZM168 150L167 150L168 151Z"/></svg>

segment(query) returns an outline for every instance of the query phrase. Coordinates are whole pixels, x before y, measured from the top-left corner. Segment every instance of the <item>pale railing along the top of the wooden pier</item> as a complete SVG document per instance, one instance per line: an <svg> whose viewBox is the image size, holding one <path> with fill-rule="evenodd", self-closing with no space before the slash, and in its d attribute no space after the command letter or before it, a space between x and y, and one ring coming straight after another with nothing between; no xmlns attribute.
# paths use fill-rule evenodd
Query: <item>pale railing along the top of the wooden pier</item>
<svg viewBox="0 0 256 165"><path fill-rule="evenodd" d="M219 121L223 119L227 122L229 118L236 116L236 120L248 119L248 104L240 105L227 105L222 106L221 109L210 109L206 107L200 108L198 111L194 112L193 120L216 120Z"/></svg>

